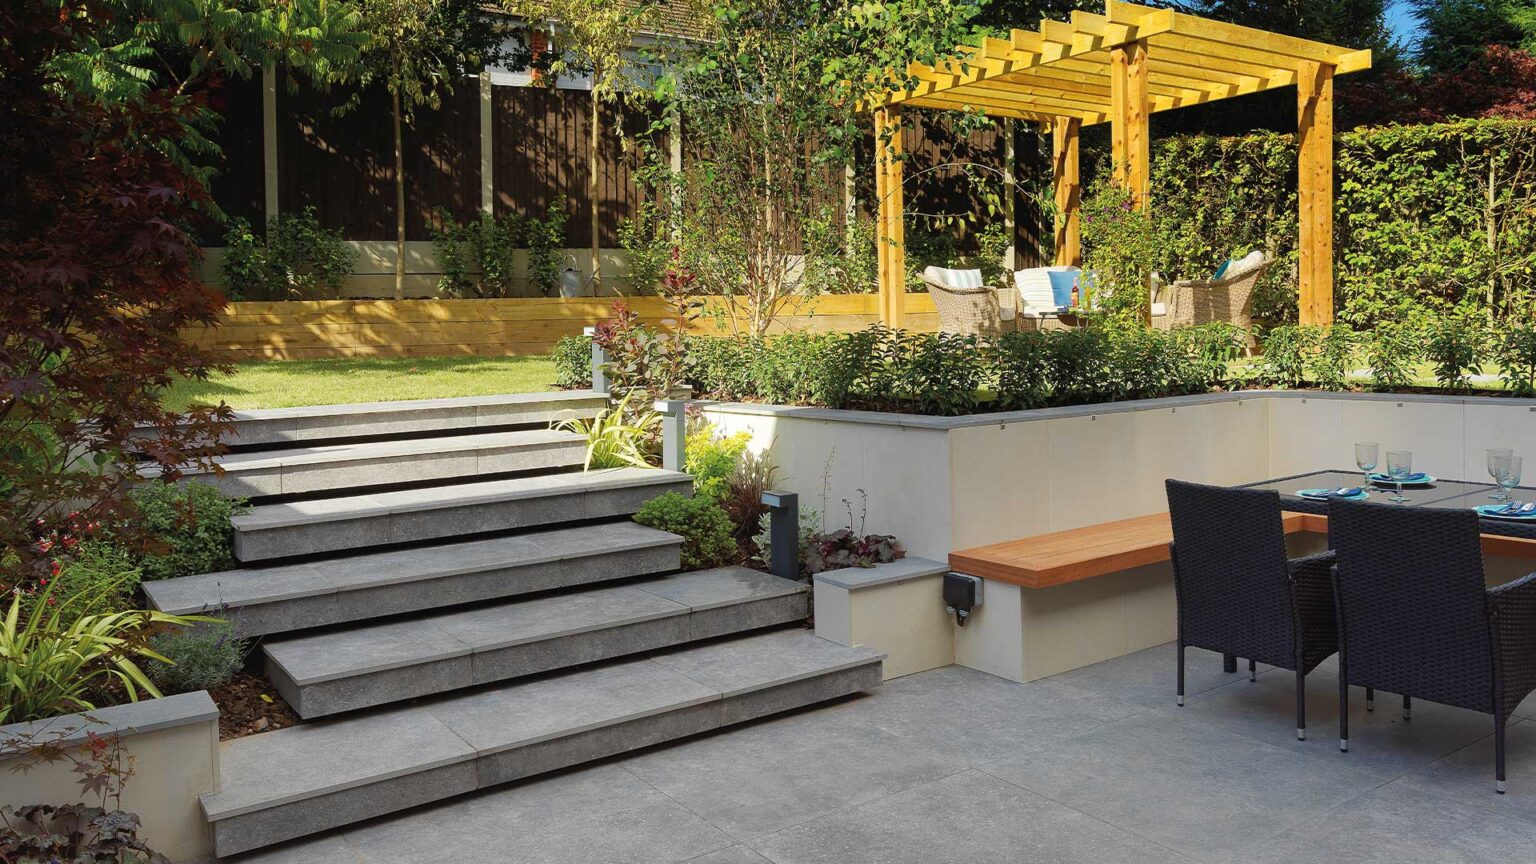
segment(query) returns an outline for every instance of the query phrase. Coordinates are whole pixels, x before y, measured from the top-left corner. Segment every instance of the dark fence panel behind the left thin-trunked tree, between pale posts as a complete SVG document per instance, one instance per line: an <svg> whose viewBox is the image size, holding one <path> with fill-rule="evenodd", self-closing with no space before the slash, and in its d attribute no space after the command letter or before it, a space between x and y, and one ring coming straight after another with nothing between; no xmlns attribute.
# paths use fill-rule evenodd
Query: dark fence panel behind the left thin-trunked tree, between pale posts
<svg viewBox="0 0 1536 864"><path fill-rule="evenodd" d="M389 94L372 88L336 117L350 94L278 89L278 203L313 206L347 240L395 238L395 137ZM404 134L406 237L430 240L432 214L458 220L479 209L479 85L467 78L438 111L419 109Z"/></svg>

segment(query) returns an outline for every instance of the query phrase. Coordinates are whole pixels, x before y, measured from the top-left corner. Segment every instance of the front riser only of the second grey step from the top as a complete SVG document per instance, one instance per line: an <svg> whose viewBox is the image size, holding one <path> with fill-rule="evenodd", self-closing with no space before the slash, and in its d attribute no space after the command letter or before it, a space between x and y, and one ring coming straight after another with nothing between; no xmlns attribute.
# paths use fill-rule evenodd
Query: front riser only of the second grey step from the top
<svg viewBox="0 0 1536 864"><path fill-rule="evenodd" d="M535 470L581 467L587 447L581 441L551 443L536 447L502 447L382 457L339 464L295 464L252 470L194 474L184 481L212 486L224 495L240 498L273 498L278 495L313 495L333 492L346 495L379 486L424 484L433 481L470 481L475 477L507 475Z"/></svg>

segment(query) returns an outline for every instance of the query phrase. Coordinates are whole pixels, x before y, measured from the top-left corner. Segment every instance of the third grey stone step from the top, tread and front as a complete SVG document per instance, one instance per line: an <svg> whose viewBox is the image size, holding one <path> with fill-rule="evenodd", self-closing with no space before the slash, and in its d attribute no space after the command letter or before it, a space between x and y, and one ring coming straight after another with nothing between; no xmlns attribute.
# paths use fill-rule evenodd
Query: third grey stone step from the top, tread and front
<svg viewBox="0 0 1536 864"><path fill-rule="evenodd" d="M240 561L267 561L445 540L625 517L664 492L691 489L685 474L616 467L263 504L232 520L233 547Z"/></svg>

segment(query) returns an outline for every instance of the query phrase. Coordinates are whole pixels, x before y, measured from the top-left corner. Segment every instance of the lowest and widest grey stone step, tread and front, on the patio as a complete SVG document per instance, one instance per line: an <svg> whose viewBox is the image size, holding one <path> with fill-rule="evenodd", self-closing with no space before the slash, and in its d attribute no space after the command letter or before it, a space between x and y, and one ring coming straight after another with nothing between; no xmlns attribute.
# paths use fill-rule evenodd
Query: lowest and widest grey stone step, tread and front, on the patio
<svg viewBox="0 0 1536 864"><path fill-rule="evenodd" d="M203 812L235 855L868 690L880 661L776 630L304 723L221 744Z"/></svg>

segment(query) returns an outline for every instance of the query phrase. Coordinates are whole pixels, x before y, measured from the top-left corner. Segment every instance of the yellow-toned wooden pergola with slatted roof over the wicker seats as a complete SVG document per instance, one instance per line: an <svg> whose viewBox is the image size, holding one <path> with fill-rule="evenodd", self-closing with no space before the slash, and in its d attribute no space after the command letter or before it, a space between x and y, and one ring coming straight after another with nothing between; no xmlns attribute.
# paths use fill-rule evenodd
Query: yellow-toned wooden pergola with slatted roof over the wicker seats
<svg viewBox="0 0 1536 864"><path fill-rule="evenodd" d="M903 108L969 109L1051 129L1055 261L1081 264L1078 134L1111 123L1114 175L1138 206L1150 189L1149 120L1157 111L1295 85L1299 151L1301 321L1333 320L1333 77L1370 68L1358 51L1213 22L1174 9L1106 0L1103 15L1072 12L1009 38L962 45L937 66L911 63L911 88L874 109L880 320L903 323Z"/></svg>

